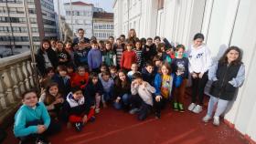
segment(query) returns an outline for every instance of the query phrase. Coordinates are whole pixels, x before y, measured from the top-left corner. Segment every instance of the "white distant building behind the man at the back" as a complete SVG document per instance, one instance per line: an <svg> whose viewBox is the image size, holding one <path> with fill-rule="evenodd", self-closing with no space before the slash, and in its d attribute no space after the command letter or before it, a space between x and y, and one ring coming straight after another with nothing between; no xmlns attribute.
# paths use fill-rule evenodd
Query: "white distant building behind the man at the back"
<svg viewBox="0 0 256 144"><path fill-rule="evenodd" d="M77 34L78 29L82 28L85 31L85 36L91 38L93 5L83 2L72 2L71 5L65 3L64 9L66 13L66 22L73 30L73 33Z"/></svg>

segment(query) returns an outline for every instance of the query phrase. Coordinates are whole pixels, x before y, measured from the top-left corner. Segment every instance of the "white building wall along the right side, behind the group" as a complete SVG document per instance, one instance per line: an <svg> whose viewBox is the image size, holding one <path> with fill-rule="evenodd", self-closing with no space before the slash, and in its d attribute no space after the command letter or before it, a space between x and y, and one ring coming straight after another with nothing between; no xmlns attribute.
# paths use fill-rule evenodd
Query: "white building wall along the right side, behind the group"
<svg viewBox="0 0 256 144"><path fill-rule="evenodd" d="M200 32L215 61L229 46L243 50L246 80L230 103L225 120L256 141L255 0L115 0L114 36L134 28L139 37L165 36L190 46Z"/></svg>

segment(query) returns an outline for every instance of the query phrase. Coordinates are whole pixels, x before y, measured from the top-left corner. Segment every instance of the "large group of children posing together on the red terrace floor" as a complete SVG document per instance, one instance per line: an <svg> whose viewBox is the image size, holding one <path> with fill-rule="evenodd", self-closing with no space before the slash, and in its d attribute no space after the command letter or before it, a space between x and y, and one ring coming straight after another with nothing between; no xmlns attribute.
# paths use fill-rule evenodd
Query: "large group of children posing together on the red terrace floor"
<svg viewBox="0 0 256 144"><path fill-rule="evenodd" d="M84 37L84 30L73 43L43 40L37 53L42 94L35 91L22 96L23 106L16 112L14 132L22 142L36 139L47 143L48 133L60 130L59 121L80 131L95 120L101 107L112 106L144 120L151 113L161 118L161 110L172 101L174 110L184 112L184 95L189 74L192 76L192 102L188 110L202 111L203 88L213 80L208 114L214 124L244 80L240 48L231 46L219 64L212 66L209 50L197 34L193 45L171 45L166 38L137 38L133 29L125 40L120 36L98 43ZM225 71L225 74L223 74ZM230 72L231 71L231 72ZM227 76L226 76L227 75ZM223 79L223 80L222 80ZM223 88L224 87L224 88ZM218 91L220 93L218 93ZM198 103L197 103L198 93Z"/></svg>

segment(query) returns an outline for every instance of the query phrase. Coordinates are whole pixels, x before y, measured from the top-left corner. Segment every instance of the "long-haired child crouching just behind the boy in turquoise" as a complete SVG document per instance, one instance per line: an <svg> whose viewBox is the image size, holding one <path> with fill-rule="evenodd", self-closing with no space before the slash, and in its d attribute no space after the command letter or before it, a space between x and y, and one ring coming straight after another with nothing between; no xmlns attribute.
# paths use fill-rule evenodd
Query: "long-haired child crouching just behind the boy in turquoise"
<svg viewBox="0 0 256 144"><path fill-rule="evenodd" d="M39 102L43 102L48 109L48 114L51 118L59 117L59 110L62 108L64 98L59 93L59 87L57 83L50 83L40 98Z"/></svg>

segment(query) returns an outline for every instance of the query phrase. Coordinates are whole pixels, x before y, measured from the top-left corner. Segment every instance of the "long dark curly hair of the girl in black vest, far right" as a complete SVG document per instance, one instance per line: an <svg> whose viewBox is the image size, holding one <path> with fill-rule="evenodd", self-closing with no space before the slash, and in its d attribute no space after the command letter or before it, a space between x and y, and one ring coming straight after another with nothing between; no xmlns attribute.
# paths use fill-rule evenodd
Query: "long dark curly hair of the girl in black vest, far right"
<svg viewBox="0 0 256 144"><path fill-rule="evenodd" d="M231 65L242 64L242 61L241 61L242 52L238 46L229 46L229 48L225 51L225 53L222 55L222 57L219 58L219 63L220 64L228 64L229 63L227 55L228 55L229 51L231 51L231 50L235 50L235 51L239 52L239 57L236 60L232 61Z"/></svg>

